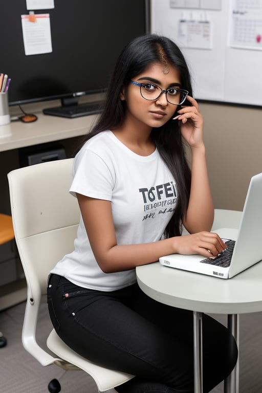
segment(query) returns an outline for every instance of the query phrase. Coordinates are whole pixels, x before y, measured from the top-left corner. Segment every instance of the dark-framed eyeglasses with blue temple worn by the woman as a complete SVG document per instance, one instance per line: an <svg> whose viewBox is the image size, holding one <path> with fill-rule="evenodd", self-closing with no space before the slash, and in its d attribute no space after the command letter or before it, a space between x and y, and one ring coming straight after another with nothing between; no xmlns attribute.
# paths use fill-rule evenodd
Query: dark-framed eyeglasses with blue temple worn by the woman
<svg viewBox="0 0 262 393"><path fill-rule="evenodd" d="M149 101L157 100L161 94L166 95L166 100L173 105L181 105L185 102L188 95L187 90L178 88L169 88L166 90L161 89L157 84L151 82L139 83L134 80L130 80L130 83L135 86L140 86L141 96Z"/></svg>

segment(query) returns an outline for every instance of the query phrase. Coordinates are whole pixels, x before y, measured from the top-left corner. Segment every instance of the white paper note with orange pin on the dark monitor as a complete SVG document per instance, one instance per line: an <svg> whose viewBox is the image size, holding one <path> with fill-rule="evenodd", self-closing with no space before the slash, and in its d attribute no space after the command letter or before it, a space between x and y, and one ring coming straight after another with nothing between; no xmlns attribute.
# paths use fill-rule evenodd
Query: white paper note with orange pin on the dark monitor
<svg viewBox="0 0 262 393"><path fill-rule="evenodd" d="M52 52L49 14L21 15L21 23L26 56Z"/></svg>

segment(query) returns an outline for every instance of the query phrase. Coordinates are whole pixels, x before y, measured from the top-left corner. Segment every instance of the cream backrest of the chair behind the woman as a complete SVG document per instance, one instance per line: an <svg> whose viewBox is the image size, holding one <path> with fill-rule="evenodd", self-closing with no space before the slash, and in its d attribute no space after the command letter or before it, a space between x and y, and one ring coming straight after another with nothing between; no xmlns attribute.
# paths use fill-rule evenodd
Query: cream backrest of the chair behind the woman
<svg viewBox="0 0 262 393"><path fill-rule="evenodd" d="M72 163L50 161L8 173L15 239L33 298L46 293L49 271L74 247L80 211L69 193Z"/></svg>

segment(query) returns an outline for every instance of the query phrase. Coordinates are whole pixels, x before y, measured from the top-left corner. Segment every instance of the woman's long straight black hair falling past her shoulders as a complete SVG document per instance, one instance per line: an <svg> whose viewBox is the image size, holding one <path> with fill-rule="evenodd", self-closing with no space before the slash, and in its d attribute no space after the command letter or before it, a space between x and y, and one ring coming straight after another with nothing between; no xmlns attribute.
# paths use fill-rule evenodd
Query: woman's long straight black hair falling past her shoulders
<svg viewBox="0 0 262 393"><path fill-rule="evenodd" d="M169 38L156 34L137 37L129 42L120 54L108 85L101 116L91 133L86 135L84 142L102 131L113 130L123 124L125 101L120 100L123 87L151 63L163 63L166 67L170 64L176 67L180 74L182 88L192 96L189 70L178 46ZM153 128L151 137L177 183L176 210L165 229L166 237L177 236L181 234L191 183L191 172L185 157L179 122L171 118L161 127Z"/></svg>

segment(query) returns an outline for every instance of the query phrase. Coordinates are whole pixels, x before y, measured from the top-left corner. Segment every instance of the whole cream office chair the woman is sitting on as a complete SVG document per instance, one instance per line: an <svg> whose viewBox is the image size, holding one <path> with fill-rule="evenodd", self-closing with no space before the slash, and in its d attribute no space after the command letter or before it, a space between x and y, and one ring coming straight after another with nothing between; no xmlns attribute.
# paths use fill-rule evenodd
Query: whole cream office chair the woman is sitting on
<svg viewBox="0 0 262 393"><path fill-rule="evenodd" d="M54 330L47 339L54 356L41 348L35 338L41 295L47 293L48 273L64 254L73 250L79 223L77 200L69 193L72 162L72 159L51 161L8 173L15 239L28 286L22 341L41 365L54 363L65 370L82 369L93 377L100 391L105 391L133 376L82 358ZM51 381L49 391L60 391L58 381Z"/></svg>

